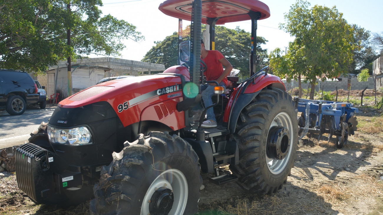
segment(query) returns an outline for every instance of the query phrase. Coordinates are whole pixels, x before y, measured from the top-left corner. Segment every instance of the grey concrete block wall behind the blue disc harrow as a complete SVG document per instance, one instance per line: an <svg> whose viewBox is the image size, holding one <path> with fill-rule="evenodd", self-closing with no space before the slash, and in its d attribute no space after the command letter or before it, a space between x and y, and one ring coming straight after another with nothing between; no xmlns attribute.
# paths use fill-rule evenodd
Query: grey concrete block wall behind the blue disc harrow
<svg viewBox="0 0 383 215"><path fill-rule="evenodd" d="M347 83L348 78L342 78L342 81L323 81L321 82L321 89L319 89L318 84L319 79L317 79L317 84L315 85L315 91L334 91L336 90L336 87L338 87L338 90L348 90ZM283 81L283 83L286 86L286 90L291 90L291 81L289 83L286 83L286 81ZM307 89L309 86L309 83L301 83L301 87L303 89ZM367 81L358 81L357 78L351 78L351 88L350 90L364 90L364 88L367 86L367 89L374 89L374 80L372 77L369 77ZM293 81L293 87L298 87L298 81Z"/></svg>

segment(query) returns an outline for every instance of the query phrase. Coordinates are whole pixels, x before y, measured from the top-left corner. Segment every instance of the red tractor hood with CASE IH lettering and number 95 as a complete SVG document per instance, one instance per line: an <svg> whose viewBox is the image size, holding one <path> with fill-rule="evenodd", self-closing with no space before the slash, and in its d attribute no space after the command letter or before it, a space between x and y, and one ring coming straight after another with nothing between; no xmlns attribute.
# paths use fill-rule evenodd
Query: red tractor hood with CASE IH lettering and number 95
<svg viewBox="0 0 383 215"><path fill-rule="evenodd" d="M83 112L85 109L97 109L96 106L106 107L105 103L108 103L108 106L115 112L115 114L108 114L108 116L118 116L124 126L140 120L162 122L165 119L171 119L178 121L180 120L178 117L181 117L178 114L181 113L164 116L166 113L175 112L176 104L182 100L181 78L174 74L162 73L121 78L100 83L62 100L52 114L51 119L54 121L49 123L68 127L72 124L70 121L78 121L74 119L79 117L79 114L75 114L76 112ZM165 109L162 110L162 107ZM143 114L144 112L145 114ZM82 121L82 124L100 120L96 118L88 117L87 120ZM80 122L76 122L76 124L78 123Z"/></svg>

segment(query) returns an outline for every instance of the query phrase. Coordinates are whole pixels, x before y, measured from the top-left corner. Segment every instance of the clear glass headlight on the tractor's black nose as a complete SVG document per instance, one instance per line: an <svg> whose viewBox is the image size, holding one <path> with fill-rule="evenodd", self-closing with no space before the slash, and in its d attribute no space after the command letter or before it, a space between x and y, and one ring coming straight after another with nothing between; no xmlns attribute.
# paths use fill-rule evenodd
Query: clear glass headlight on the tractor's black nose
<svg viewBox="0 0 383 215"><path fill-rule="evenodd" d="M48 125L48 138L54 143L61 143L65 145L92 144L92 135L87 127L56 129Z"/></svg>

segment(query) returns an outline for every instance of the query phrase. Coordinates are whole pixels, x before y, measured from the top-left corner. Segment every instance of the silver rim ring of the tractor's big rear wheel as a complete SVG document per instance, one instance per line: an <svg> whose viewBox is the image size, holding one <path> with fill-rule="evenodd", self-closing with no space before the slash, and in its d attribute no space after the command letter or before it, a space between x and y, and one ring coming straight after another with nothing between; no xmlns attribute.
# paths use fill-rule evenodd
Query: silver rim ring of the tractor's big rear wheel
<svg viewBox="0 0 383 215"><path fill-rule="evenodd" d="M268 132L270 133L270 131L275 130L275 127L284 127L290 133L288 146L286 149L286 156L282 160L273 159L269 157L266 153L266 162L267 162L268 169L273 174L279 174L283 171L283 169L285 169L288 161L290 160L291 151L293 149L292 144L295 138L293 134L295 134L294 131L296 128L293 127L293 122L291 121L290 116L285 112L280 112L279 114L277 114L277 116L275 116L275 118L273 119L270 125Z"/></svg>

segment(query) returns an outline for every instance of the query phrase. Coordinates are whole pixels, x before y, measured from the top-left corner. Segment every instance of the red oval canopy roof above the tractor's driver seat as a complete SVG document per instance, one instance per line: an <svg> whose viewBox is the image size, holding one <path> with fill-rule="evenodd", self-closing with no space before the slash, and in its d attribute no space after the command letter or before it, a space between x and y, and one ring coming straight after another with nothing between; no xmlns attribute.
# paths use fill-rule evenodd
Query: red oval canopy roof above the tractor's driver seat
<svg viewBox="0 0 383 215"><path fill-rule="evenodd" d="M167 0L159 10L166 15L182 20L191 20L192 0ZM219 18L216 24L250 20L250 11L259 12L259 20L270 16L268 6L258 0L202 0L202 24L210 18Z"/></svg>

